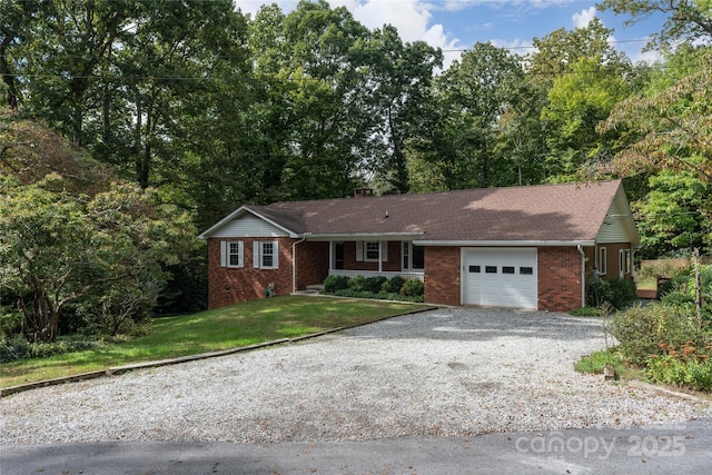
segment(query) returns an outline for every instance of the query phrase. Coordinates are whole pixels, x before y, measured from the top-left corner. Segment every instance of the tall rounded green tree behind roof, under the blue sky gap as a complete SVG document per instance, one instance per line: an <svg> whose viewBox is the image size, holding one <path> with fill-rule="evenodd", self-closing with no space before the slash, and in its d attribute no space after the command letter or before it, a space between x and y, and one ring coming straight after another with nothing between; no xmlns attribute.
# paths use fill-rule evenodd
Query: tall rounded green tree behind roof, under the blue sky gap
<svg viewBox="0 0 712 475"><path fill-rule="evenodd" d="M516 182L512 164L494 150L500 119L523 79L520 59L491 43L476 43L437 78L424 131L411 147L439 170L447 189Z"/></svg>

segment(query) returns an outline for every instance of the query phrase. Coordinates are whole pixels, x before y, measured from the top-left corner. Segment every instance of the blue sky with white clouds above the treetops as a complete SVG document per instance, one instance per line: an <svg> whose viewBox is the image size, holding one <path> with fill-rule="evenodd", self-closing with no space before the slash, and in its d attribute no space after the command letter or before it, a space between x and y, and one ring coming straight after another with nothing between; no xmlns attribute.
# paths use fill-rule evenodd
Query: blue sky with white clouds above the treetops
<svg viewBox="0 0 712 475"><path fill-rule="evenodd" d="M254 14L264 3L277 3L285 13L297 0L235 0L245 13ZM652 62L654 52L642 52L646 38L660 31L663 19L650 18L632 27L625 16L599 11L587 0L330 0L332 7L346 7L356 20L369 29L390 23L406 42L426 41L445 55L445 67L477 41L525 55L533 51L532 40L554 30L585 28L599 17L614 29L610 41L633 62Z"/></svg>

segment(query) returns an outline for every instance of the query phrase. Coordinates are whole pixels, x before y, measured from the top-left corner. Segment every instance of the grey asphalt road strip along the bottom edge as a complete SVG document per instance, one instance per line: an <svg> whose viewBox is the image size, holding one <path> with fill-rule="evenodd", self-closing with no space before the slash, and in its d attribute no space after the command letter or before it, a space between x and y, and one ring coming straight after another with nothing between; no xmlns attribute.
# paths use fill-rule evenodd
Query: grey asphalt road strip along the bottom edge
<svg viewBox="0 0 712 475"><path fill-rule="evenodd" d="M0 446L0 474L705 474L712 420L338 443Z"/></svg>

